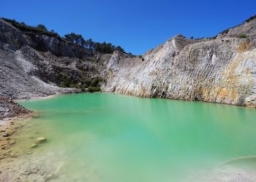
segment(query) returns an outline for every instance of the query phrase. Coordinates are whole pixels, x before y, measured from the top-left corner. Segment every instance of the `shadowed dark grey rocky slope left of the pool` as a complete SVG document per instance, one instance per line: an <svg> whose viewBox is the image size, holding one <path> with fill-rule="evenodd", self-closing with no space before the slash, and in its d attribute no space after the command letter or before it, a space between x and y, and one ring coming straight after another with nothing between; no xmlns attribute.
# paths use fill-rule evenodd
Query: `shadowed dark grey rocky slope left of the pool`
<svg viewBox="0 0 256 182"><path fill-rule="evenodd" d="M102 65L96 61L100 58L110 57L69 44L54 33L21 31L0 18L1 97L20 99L80 92L64 87L79 86L86 79L100 76ZM15 116L4 103L0 102L1 116Z"/></svg>

